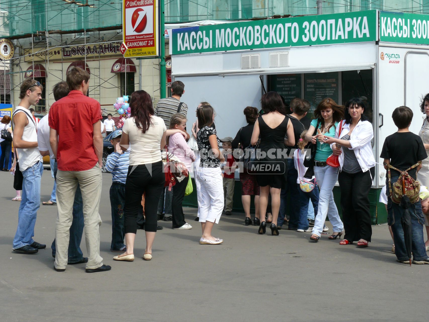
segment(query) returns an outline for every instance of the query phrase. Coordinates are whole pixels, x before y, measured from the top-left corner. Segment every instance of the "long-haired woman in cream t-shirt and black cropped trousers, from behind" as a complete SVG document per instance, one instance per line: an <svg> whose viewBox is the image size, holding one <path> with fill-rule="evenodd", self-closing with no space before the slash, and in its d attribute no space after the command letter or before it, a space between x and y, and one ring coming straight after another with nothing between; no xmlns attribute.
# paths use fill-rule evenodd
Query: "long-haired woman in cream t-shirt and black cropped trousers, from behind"
<svg viewBox="0 0 429 322"><path fill-rule="evenodd" d="M157 231L157 206L165 182L161 149L165 146L168 134L182 131L169 130L167 134L163 119L155 116L151 96L145 91L135 91L132 94L130 107L131 116L124 122L119 142L122 151L127 151L130 147L130 166L125 183L124 229L127 250L113 259L134 260L137 213L145 192L146 249L143 259L150 261Z"/></svg>

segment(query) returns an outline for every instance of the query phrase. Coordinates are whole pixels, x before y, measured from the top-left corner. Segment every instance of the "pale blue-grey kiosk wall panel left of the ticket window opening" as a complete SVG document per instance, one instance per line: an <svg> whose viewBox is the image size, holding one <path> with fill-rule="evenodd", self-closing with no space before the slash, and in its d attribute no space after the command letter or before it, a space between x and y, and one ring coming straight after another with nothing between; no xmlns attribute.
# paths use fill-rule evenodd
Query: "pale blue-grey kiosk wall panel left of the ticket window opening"
<svg viewBox="0 0 429 322"><path fill-rule="evenodd" d="M216 112L215 125L218 137L235 137L247 125L243 109L254 106L260 109L261 82L259 76L189 76L175 77L185 85L181 101L188 106L187 131L196 121L196 106L208 102Z"/></svg>

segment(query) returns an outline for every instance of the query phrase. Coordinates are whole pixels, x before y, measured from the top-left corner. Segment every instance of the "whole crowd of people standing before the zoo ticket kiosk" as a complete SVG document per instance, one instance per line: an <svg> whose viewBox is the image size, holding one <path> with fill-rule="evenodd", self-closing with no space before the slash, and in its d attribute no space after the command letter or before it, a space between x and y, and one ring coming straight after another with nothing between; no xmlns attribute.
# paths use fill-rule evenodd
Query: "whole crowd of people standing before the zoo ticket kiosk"
<svg viewBox="0 0 429 322"><path fill-rule="evenodd" d="M162 228L158 220L171 221L173 229L192 228L182 208L185 194L193 190L191 173L198 201L195 220L202 229L200 244L224 242L213 236L212 229L223 213L232 214L237 174L242 186L244 223L248 226L253 222L258 234L266 234L269 225L271 234L278 236L287 225L288 230L311 232L310 240L316 243L328 230L327 216L333 228L329 240L338 238L343 246L369 246L369 192L376 161L371 145L374 131L362 97L351 98L345 106L326 97L318 103L311 120L307 100L295 98L286 107L284 99L270 91L263 94L260 110L245 107L248 125L234 138L218 138L215 109L208 102L196 106L196 119L187 133L188 106L180 101L184 94L180 81L172 83L171 97L159 100L155 108L147 92L133 92L131 116L122 128L115 129L112 115L102 124L100 103L87 96L89 78L85 70L70 69L66 81L54 86L56 102L40 121L32 115L30 106L41 99L42 85L26 79L12 118L3 117L1 121L5 156L0 168L14 173L17 196L13 200L21 202L13 252L35 254L46 247L33 236L40 207L42 156L49 155L55 183L51 200L43 204L57 206L51 244L54 269L64 271L67 264L80 263L86 263L88 273L111 269L100 257L105 131L114 147L107 157L106 170L112 174L111 251L121 253L113 258L116 261L134 260L137 229L145 230L142 257L151 260L155 234ZM392 118L398 131L386 138L380 155L388 173L380 201L387 205L392 251L402 264L411 264L411 253L414 264L429 264L429 240L425 243L423 234L423 226L429 234L429 94L420 109L426 119L419 135L408 130L413 118L411 109L394 109ZM9 160L6 150L12 142L14 162L8 169L4 160ZM342 220L332 192L337 181ZM408 218L406 224L404 218ZM88 258L80 249L84 227Z"/></svg>

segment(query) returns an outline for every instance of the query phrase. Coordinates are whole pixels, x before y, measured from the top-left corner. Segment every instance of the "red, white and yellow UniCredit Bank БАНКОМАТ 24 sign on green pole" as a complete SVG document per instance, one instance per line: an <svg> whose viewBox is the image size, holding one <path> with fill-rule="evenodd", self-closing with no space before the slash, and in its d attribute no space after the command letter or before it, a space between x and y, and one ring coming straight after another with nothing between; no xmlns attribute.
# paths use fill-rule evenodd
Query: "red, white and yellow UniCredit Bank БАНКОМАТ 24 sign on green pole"
<svg viewBox="0 0 429 322"><path fill-rule="evenodd" d="M159 0L124 0L124 57L159 56Z"/></svg>

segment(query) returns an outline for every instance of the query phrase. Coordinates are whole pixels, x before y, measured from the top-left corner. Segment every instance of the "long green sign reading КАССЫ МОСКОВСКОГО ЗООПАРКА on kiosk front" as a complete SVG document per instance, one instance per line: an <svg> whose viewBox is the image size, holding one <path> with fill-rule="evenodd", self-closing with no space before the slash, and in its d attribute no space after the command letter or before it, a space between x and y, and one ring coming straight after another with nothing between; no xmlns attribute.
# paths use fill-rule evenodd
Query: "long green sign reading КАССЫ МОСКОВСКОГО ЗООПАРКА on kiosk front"
<svg viewBox="0 0 429 322"><path fill-rule="evenodd" d="M172 53L283 48L376 41L377 10L178 28Z"/></svg>

